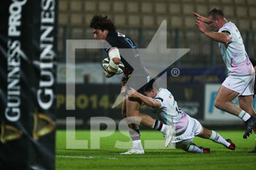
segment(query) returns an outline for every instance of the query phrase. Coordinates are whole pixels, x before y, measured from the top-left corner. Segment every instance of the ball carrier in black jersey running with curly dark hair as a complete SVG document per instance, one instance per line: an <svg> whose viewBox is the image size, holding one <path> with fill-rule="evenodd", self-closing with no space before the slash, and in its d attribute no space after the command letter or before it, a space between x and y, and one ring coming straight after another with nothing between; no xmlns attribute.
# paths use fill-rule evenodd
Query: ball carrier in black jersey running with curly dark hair
<svg viewBox="0 0 256 170"><path fill-rule="evenodd" d="M101 40L105 40L111 45L111 47L105 49L105 52L108 53L110 58L108 72L104 70L105 77L113 77L118 69L118 64L121 61L124 63L124 76L121 80L122 87L125 85L128 89L134 88L138 90L139 93L143 94L144 87L148 82L148 74L140 61L140 55L138 50L136 50L137 47L132 39L124 34L116 32L116 26L114 26L113 22L110 20L110 18L108 18L108 16L103 17L102 15L94 15L90 23L90 28L94 34L94 39L99 40L99 42L104 42ZM130 49L128 50L128 53L124 52L126 59L124 59L122 56L124 53L122 53L121 49ZM133 81L127 82L131 75ZM139 98L127 97L123 102L122 116L140 117L140 124L161 131L165 136L165 147L168 147L170 145L171 139L170 126L165 125L161 121L155 120L148 115L140 113L141 104L142 101ZM144 150L140 141L139 125L131 123L128 126L132 129L129 131L130 137L132 138L132 149L121 154L144 154Z"/></svg>

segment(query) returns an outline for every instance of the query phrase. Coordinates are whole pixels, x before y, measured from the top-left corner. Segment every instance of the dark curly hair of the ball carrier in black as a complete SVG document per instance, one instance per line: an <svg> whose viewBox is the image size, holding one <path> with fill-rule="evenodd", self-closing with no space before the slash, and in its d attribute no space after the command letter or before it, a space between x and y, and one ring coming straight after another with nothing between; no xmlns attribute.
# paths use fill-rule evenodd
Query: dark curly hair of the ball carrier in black
<svg viewBox="0 0 256 170"><path fill-rule="evenodd" d="M91 19L90 28L100 29L101 31L108 30L109 32L116 32L116 26L108 18L108 15L102 17L100 14L94 15Z"/></svg>

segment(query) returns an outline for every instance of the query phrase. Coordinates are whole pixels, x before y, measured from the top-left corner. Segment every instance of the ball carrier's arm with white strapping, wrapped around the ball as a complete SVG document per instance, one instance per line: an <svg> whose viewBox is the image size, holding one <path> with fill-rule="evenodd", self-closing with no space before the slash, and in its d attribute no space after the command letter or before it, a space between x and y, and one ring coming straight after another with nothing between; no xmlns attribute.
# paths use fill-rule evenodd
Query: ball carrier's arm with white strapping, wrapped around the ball
<svg viewBox="0 0 256 170"><path fill-rule="evenodd" d="M104 72L105 77L112 77L118 70L119 63L121 61L120 53L117 47L113 47L108 51L108 57L110 62L108 65L108 71Z"/></svg>

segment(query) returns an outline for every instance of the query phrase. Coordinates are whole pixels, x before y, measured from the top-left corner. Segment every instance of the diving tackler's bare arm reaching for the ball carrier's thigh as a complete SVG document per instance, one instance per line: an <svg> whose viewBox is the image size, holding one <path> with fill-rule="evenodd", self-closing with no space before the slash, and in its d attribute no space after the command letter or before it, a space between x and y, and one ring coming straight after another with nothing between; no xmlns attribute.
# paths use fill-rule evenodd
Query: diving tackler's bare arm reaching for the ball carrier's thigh
<svg viewBox="0 0 256 170"><path fill-rule="evenodd" d="M148 107L161 107L161 103L157 100L154 100L154 98L144 96L138 91L131 88L131 90L128 90L128 96L134 97L134 98L140 98L141 101L143 101Z"/></svg>

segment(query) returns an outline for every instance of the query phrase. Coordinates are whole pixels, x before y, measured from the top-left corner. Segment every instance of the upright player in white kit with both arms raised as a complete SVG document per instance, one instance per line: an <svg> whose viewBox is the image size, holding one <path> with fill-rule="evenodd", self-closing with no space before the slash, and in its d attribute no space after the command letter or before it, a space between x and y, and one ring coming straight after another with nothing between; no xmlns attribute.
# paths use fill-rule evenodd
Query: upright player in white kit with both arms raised
<svg viewBox="0 0 256 170"><path fill-rule="evenodd" d="M228 70L228 76L219 88L214 105L244 120L246 131L243 137L247 139L252 130L256 130L256 112L252 108L255 69L249 61L241 34L234 23L226 20L220 9L212 9L208 18L195 12L193 14L197 17L196 25L199 30L219 42L219 49ZM203 23L207 23L214 31L208 31ZM240 107L232 102L236 97Z"/></svg>

